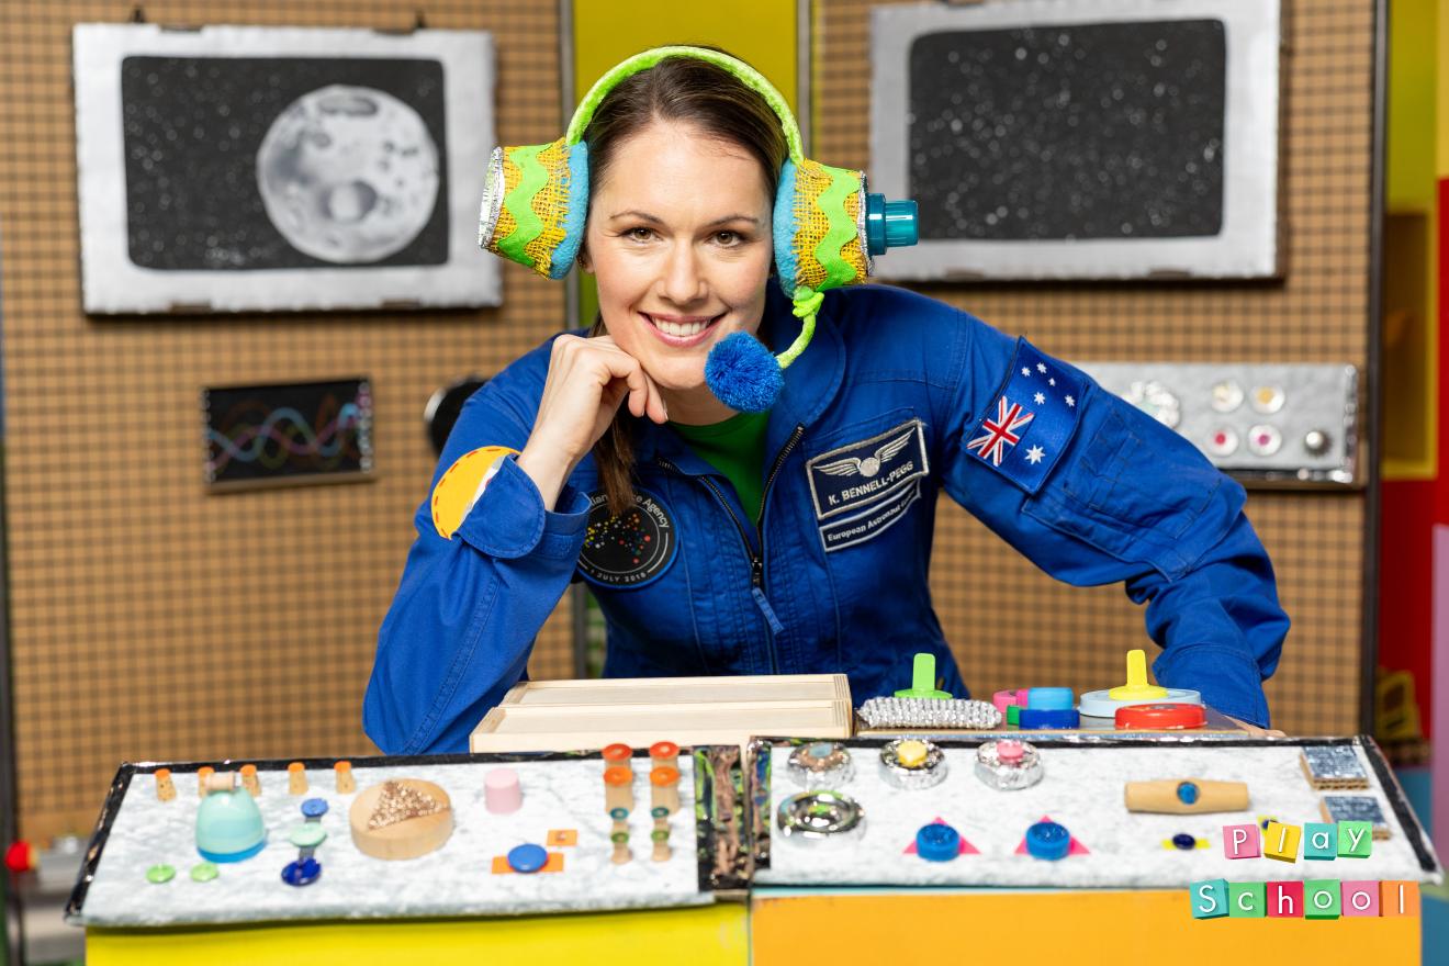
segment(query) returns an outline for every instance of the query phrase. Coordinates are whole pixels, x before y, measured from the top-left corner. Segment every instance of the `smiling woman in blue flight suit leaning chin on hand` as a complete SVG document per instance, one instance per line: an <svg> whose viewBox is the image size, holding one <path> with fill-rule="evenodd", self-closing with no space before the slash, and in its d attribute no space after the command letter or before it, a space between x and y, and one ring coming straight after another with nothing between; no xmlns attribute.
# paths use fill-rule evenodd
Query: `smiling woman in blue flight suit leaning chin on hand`
<svg viewBox="0 0 1449 966"><path fill-rule="evenodd" d="M1155 672L1266 726L1288 620L1243 491L1082 372L946 304L882 287L819 304L765 414L706 385L710 349L782 349L801 319L771 278L782 116L703 55L625 77L584 132L578 264L600 320L465 406L435 476L506 446L456 527L417 514L364 723L390 753L467 750L569 581L593 584L609 676L845 672L855 700L936 656L936 494L1053 576L1122 581ZM717 59L717 58L716 58Z"/></svg>

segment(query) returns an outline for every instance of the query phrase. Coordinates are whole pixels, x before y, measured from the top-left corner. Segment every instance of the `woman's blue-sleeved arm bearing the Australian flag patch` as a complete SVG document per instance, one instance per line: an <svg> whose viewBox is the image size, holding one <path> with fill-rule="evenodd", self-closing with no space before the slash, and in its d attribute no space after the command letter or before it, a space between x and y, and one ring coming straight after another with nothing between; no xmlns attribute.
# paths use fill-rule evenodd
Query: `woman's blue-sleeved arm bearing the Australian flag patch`
<svg viewBox="0 0 1449 966"><path fill-rule="evenodd" d="M1148 605L1162 685L1268 727L1288 617L1243 488L1081 371L953 314L958 381L938 414L951 497L1061 581L1120 581Z"/></svg>

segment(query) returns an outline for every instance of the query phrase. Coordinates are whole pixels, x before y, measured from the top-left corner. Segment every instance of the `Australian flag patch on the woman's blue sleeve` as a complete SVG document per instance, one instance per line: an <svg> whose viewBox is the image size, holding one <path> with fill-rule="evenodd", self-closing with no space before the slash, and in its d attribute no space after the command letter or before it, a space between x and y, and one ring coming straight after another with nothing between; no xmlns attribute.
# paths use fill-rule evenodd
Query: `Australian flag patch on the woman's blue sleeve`
<svg viewBox="0 0 1449 966"><path fill-rule="evenodd" d="M1035 494L1072 439L1085 388L1081 377L1017 339L1006 385L966 433L966 452Z"/></svg>

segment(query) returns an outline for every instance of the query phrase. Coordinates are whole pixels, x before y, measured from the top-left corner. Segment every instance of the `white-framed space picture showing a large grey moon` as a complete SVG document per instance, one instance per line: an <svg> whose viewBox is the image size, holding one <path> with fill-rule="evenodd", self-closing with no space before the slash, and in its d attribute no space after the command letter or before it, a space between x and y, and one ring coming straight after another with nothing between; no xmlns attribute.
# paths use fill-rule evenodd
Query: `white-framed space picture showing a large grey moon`
<svg viewBox="0 0 1449 966"><path fill-rule="evenodd" d="M85 23L74 48L85 311L500 303L472 238L490 35Z"/></svg>

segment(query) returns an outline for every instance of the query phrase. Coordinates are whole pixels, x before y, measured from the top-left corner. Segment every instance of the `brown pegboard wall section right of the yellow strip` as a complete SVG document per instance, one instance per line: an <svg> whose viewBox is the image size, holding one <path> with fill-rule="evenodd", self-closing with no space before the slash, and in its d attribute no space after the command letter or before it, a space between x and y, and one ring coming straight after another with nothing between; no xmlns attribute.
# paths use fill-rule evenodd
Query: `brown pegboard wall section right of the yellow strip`
<svg viewBox="0 0 1449 966"><path fill-rule="evenodd" d="M910 0L907 0L910 1ZM869 169L867 0L813 10L810 156ZM920 285L1071 361L1348 362L1369 358L1374 0L1284 0L1282 284ZM1366 432L1366 429L1365 429ZM1274 724L1358 730L1364 527L1359 492L1253 491L1248 514L1293 618L1268 684ZM932 591L977 694L1033 684L1123 681L1146 642L1120 587L1055 584L995 534L940 503ZM1155 650L1155 649L1153 649ZM1051 681L1043 679L1043 673Z"/></svg>

